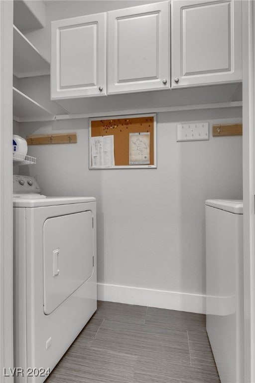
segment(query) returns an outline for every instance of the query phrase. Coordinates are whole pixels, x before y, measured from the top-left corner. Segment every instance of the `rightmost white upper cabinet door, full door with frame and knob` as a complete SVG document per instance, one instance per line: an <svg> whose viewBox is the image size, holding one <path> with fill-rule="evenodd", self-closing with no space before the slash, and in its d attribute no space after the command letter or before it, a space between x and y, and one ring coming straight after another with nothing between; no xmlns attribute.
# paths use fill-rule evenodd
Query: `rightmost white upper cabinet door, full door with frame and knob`
<svg viewBox="0 0 255 383"><path fill-rule="evenodd" d="M172 2L172 88L242 80L239 0Z"/></svg>

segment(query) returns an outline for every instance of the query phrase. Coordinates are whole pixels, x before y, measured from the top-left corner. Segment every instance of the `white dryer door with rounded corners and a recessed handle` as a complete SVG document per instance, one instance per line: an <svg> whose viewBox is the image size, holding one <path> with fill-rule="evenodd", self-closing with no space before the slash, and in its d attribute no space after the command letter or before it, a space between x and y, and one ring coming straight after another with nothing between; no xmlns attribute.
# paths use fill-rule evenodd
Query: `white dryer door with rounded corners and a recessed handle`
<svg viewBox="0 0 255 383"><path fill-rule="evenodd" d="M92 272L92 212L46 219L43 225L44 313L52 313Z"/></svg>

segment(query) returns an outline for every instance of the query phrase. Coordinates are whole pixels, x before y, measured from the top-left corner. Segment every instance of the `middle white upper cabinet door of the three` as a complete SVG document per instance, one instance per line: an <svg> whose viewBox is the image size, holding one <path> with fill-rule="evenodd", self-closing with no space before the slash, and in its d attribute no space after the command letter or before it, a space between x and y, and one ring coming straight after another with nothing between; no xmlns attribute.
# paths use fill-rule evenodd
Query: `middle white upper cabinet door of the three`
<svg viewBox="0 0 255 383"><path fill-rule="evenodd" d="M170 3L108 12L108 94L170 87Z"/></svg>

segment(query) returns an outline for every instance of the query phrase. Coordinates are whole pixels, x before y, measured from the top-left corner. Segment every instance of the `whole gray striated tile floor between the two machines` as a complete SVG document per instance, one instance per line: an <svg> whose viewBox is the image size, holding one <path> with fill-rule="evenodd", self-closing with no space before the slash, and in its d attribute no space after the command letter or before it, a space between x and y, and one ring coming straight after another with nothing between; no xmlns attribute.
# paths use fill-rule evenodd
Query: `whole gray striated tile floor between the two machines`
<svg viewBox="0 0 255 383"><path fill-rule="evenodd" d="M220 383L205 315L98 302L47 383Z"/></svg>

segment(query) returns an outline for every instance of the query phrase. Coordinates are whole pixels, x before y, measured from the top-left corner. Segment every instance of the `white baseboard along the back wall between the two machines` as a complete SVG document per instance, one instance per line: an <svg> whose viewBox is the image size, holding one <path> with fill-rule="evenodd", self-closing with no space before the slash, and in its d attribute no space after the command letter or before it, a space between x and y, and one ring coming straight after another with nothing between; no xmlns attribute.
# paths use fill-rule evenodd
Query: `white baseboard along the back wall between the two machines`
<svg viewBox="0 0 255 383"><path fill-rule="evenodd" d="M205 314L205 295L98 283L100 301Z"/></svg>

